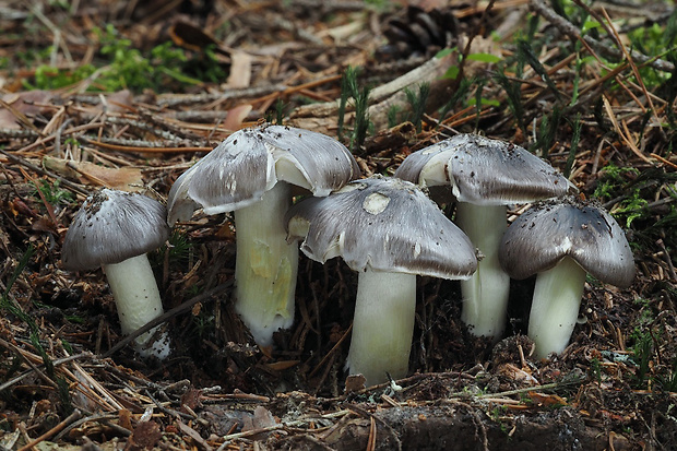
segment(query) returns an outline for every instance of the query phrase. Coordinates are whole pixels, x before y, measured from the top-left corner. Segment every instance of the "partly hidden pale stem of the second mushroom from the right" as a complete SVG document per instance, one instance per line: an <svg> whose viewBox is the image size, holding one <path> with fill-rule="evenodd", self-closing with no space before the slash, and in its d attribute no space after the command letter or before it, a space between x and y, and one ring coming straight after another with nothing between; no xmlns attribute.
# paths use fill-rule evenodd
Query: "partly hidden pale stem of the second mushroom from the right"
<svg viewBox="0 0 677 451"><path fill-rule="evenodd" d="M507 227L507 207L459 202L456 224L484 256L471 278L461 281L461 319L474 335L499 340L510 294L510 276L498 261L498 248Z"/></svg>

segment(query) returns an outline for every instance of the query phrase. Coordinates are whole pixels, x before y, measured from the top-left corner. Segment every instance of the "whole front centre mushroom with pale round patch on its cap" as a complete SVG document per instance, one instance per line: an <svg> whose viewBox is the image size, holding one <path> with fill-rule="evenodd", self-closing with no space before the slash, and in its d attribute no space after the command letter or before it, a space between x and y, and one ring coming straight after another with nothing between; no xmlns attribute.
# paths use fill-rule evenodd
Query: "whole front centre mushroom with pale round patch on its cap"
<svg viewBox="0 0 677 451"><path fill-rule="evenodd" d="M466 278L477 266L468 238L415 185L369 178L287 213L289 240L324 263L342 257L359 273L351 375L367 384L406 375L416 309L416 275Z"/></svg>

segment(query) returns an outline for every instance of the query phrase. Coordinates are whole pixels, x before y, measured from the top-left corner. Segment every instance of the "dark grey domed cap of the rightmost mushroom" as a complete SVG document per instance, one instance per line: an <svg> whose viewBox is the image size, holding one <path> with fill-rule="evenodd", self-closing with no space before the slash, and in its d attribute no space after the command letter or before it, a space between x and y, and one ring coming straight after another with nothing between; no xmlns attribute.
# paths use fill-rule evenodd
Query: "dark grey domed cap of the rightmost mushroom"
<svg viewBox="0 0 677 451"><path fill-rule="evenodd" d="M532 206L508 227L499 260L513 278L554 268L570 257L597 280L627 288L634 259L623 230L601 206L574 198Z"/></svg>

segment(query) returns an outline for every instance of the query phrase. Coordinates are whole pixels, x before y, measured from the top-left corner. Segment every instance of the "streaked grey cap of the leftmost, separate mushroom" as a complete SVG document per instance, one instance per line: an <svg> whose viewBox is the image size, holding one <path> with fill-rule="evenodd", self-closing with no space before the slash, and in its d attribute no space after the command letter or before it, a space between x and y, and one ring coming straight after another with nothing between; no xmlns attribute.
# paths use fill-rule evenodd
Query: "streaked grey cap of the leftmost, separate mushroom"
<svg viewBox="0 0 677 451"><path fill-rule="evenodd" d="M90 194L66 233L63 268L94 270L162 246L169 237L167 210L146 195L103 189Z"/></svg>

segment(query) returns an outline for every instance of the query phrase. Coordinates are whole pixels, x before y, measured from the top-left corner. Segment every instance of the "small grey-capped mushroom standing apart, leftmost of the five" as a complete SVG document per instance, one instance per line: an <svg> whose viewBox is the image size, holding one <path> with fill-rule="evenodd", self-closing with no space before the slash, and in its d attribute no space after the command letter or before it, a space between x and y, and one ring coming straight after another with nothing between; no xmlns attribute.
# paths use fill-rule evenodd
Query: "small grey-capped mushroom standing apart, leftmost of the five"
<svg viewBox="0 0 677 451"><path fill-rule="evenodd" d="M167 211L139 193L103 189L87 197L66 233L63 268L102 268L115 298L120 327L129 334L163 314L163 302L146 252L169 237ZM143 357L169 355L169 337L155 328L135 340ZM158 332L159 333L159 332Z"/></svg>

